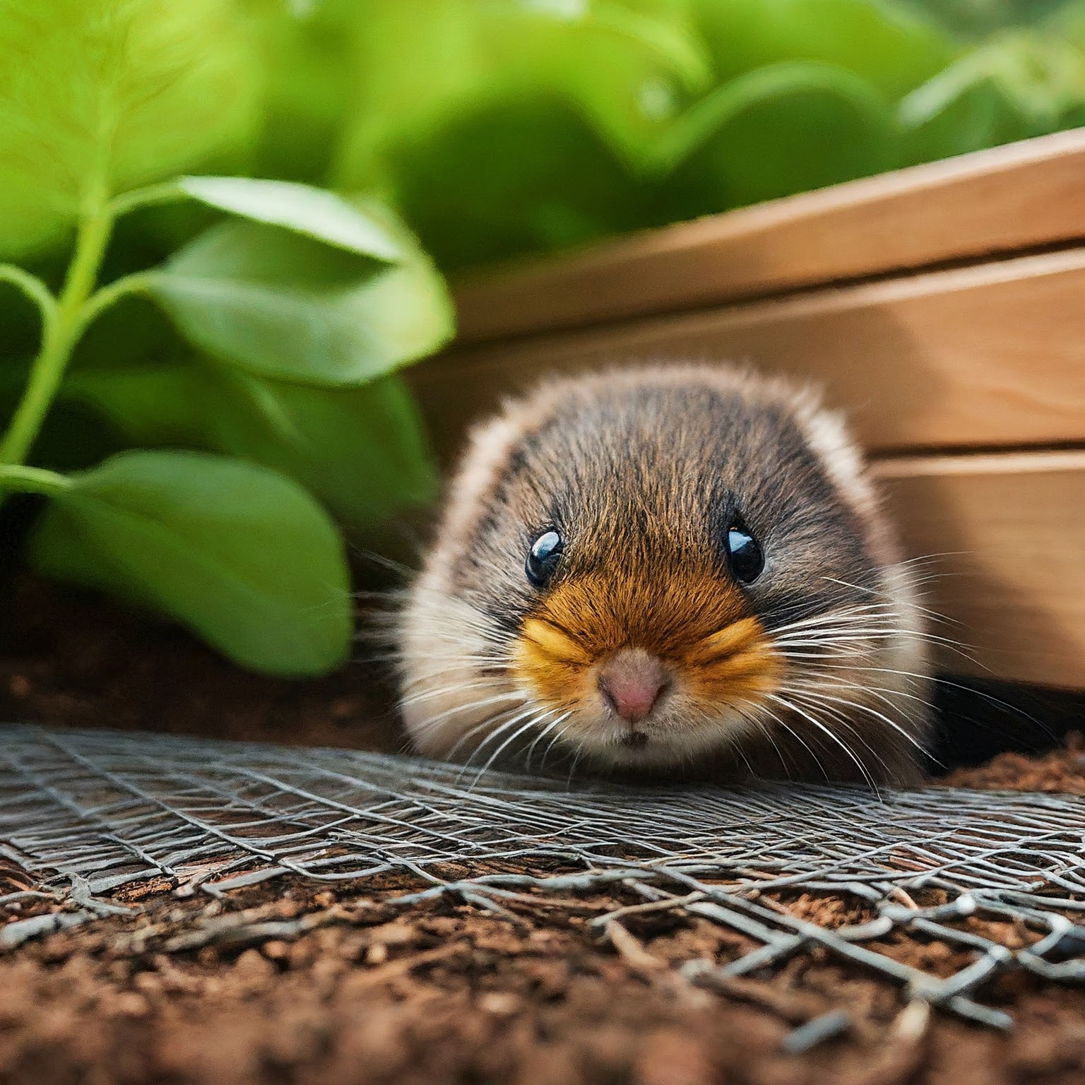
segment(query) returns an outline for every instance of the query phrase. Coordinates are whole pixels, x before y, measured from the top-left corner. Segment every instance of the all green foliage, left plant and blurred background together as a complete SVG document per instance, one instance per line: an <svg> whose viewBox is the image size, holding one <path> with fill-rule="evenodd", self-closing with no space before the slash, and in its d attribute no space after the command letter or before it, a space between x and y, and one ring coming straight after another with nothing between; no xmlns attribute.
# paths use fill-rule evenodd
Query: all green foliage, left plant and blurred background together
<svg viewBox="0 0 1085 1085"><path fill-rule="evenodd" d="M0 499L320 673L443 276L1082 124L1085 0L0 0Z"/></svg>

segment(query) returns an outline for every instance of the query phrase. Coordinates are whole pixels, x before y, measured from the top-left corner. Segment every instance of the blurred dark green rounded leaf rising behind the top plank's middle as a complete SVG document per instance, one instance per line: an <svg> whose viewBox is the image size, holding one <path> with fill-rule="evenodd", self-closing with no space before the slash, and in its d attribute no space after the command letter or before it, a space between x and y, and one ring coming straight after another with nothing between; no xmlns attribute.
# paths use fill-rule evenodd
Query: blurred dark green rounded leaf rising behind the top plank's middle
<svg viewBox="0 0 1085 1085"><path fill-rule="evenodd" d="M718 88L661 150L666 206L692 218L879 173L896 128L864 79L827 64L757 68Z"/></svg>

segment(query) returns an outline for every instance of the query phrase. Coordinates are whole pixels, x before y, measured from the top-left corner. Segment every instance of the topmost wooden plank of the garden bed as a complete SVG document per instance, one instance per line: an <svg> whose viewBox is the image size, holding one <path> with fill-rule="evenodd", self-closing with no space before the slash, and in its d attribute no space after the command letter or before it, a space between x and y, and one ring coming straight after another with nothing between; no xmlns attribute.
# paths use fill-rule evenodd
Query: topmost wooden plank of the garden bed
<svg viewBox="0 0 1085 1085"><path fill-rule="evenodd" d="M1085 128L685 222L457 291L481 342L1085 238Z"/></svg>

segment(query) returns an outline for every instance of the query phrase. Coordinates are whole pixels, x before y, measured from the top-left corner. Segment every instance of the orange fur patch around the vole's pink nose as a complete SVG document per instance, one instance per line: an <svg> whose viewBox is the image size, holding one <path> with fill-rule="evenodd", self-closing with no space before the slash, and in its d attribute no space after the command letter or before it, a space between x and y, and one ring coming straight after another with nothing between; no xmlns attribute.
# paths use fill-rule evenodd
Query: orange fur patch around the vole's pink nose
<svg viewBox="0 0 1085 1085"><path fill-rule="evenodd" d="M600 577L561 585L527 618L513 649L520 682L563 709L596 698L593 664L623 647L669 663L702 710L774 692L782 660L737 588L689 578L679 589L617 587Z"/></svg>

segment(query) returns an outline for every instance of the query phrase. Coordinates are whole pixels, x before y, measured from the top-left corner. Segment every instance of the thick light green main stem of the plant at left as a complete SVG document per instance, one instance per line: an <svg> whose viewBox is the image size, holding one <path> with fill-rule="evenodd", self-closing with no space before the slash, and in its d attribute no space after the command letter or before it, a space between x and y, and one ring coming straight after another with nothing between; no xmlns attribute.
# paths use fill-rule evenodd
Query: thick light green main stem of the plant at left
<svg viewBox="0 0 1085 1085"><path fill-rule="evenodd" d="M112 228L113 215L104 201L79 224L75 255L68 266L54 319L46 321L41 350L30 368L26 392L8 432L0 441L0 464L22 463L41 431L46 413L82 331L84 308L94 289Z"/></svg>

